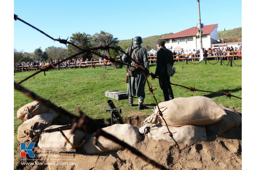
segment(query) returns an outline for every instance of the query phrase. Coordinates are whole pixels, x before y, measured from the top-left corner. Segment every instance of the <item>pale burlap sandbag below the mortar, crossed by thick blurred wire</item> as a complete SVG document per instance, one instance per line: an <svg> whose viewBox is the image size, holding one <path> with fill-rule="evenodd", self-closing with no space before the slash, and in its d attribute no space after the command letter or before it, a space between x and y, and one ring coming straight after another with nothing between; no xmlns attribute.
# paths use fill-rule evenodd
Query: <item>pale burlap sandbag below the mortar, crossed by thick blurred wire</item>
<svg viewBox="0 0 256 170"><path fill-rule="evenodd" d="M112 126L102 128L102 130L131 146L135 146L139 141L142 140L138 128L130 124L114 124ZM118 151L124 149L121 145L118 145L117 143L102 136L98 138L97 145L94 145L94 138L95 135L92 135L90 139L83 145L83 150L86 153L100 154L108 151Z"/></svg>

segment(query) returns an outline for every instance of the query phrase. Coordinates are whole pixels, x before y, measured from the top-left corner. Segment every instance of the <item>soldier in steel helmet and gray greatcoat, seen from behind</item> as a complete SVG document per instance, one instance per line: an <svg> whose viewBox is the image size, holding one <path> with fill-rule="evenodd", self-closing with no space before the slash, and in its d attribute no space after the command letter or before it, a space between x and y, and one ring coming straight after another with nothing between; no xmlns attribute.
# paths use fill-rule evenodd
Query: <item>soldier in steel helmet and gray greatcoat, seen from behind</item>
<svg viewBox="0 0 256 170"><path fill-rule="evenodd" d="M140 36L136 36L133 39L133 47L132 47L132 59L135 61L139 61L140 64L146 68L146 72L148 72L148 58L147 58L147 50L144 47L141 47L142 38ZM129 54L131 46L126 49L126 53ZM138 57L138 59L137 59ZM128 63L129 56L124 54L121 58L125 63ZM131 65L134 66L134 62L131 60ZM138 96L138 109L143 110L146 106L143 105L145 99L145 76L143 75L142 70L132 71L133 75L129 76L129 83L127 83L127 94L129 95L129 106L133 105L133 96ZM143 83L144 82L144 83Z"/></svg>

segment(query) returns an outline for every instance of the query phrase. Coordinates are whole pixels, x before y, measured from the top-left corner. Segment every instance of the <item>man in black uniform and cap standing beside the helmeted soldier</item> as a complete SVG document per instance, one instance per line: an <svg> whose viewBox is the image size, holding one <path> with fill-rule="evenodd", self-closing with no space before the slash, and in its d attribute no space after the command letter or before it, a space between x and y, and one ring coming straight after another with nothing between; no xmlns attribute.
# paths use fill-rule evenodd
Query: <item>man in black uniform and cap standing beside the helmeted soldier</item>
<svg viewBox="0 0 256 170"><path fill-rule="evenodd" d="M173 90L170 84L170 76L167 75L167 63L173 66L172 51L165 47L164 40L157 41L157 68L155 74L159 77L159 85L163 90L163 97L165 101L174 99ZM154 79L154 78L153 78Z"/></svg>

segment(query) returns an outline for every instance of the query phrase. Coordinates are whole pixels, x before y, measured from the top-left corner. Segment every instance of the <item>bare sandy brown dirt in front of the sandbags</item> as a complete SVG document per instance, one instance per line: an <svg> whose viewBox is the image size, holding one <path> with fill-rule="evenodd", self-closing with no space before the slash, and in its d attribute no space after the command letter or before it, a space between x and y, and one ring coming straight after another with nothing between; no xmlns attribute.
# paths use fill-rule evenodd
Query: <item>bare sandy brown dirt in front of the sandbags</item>
<svg viewBox="0 0 256 170"><path fill-rule="evenodd" d="M241 115L241 114L240 114ZM140 127L143 125L143 118L133 116L125 119L126 123ZM153 139L143 137L143 141L136 146L147 157L154 159L161 165L170 169L241 169L242 168L242 124L234 127L226 133L216 136L207 133L207 141L188 146L179 144L181 158L178 158L177 147L173 143L165 140L154 141ZM37 150L37 148L35 148ZM129 150L120 150L117 152L108 152L104 154L87 154L81 148L76 149L76 153L55 153L59 156L57 160L53 158L44 158L33 160L32 162L41 162L44 165L27 165L21 162L31 162L30 158L19 158L19 163L15 169L35 170L35 169L85 169L85 170L139 170L139 169L157 169L139 157L133 155ZM34 151L35 154L36 153ZM19 154L19 153L17 153ZM54 153L53 153L54 154ZM16 155L15 155L16 158ZM73 160L61 160L73 159ZM57 165L57 163L69 163L69 165ZM75 162L75 165L74 165ZM55 163L56 165L47 165Z"/></svg>

